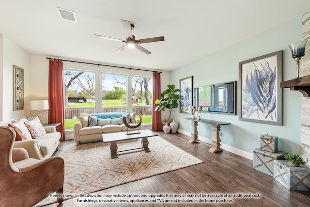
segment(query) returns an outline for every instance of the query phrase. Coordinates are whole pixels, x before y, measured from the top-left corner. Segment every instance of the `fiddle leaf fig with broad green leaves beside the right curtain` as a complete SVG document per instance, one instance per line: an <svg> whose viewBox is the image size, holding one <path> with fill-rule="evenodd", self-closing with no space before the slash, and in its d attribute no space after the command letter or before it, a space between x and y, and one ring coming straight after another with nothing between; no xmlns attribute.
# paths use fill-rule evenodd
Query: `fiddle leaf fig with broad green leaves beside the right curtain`
<svg viewBox="0 0 310 207"><path fill-rule="evenodd" d="M179 94L180 89L176 89L175 85L168 85L168 89L165 90L162 94L160 94L161 98L155 100L155 104L157 107L154 111L164 111L164 122L169 122L171 117L171 109L178 107ZM166 110L169 109L169 116L166 119Z"/></svg>

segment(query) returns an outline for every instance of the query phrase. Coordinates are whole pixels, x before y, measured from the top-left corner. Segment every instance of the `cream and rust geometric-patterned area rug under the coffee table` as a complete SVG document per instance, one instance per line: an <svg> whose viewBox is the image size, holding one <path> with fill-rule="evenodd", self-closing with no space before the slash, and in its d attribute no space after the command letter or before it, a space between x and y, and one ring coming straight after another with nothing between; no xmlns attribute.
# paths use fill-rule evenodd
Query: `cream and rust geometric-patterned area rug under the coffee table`
<svg viewBox="0 0 310 207"><path fill-rule="evenodd" d="M118 153L110 158L109 143L86 143L64 148L65 175L63 193L88 194L113 186L167 173L202 163L202 160L160 137L150 137L151 152L142 149ZM118 142L118 151L138 148L140 139ZM55 203L56 198L47 197L38 206Z"/></svg>

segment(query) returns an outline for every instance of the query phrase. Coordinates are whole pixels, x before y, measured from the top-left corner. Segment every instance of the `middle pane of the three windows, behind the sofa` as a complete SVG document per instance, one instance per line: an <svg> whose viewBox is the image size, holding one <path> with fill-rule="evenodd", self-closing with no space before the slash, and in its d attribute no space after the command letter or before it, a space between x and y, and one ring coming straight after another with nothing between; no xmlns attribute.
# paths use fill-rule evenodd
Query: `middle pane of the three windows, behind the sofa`
<svg viewBox="0 0 310 207"><path fill-rule="evenodd" d="M127 76L118 74L101 74L102 112L127 111Z"/></svg>

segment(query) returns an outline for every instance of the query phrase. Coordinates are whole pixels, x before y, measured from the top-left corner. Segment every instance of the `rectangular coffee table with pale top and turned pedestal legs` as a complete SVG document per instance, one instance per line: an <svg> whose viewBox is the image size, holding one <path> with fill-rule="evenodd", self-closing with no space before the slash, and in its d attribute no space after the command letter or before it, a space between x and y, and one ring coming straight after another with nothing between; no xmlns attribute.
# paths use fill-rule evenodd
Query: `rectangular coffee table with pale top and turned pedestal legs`
<svg viewBox="0 0 310 207"><path fill-rule="evenodd" d="M133 131L130 131L132 133ZM136 131L138 132L138 131ZM124 152L134 149L142 149L144 152L150 152L149 148L149 141L147 140L148 137L155 137L157 134L149 129L140 130L140 133L135 134L126 134L126 131L123 132L114 132L114 133L106 133L102 135L104 143L110 143L110 151L111 151L111 159L117 158L118 152ZM127 149L122 151L117 151L117 143L118 141L124 140L133 140L133 139L141 139L142 147L134 148L134 149Z"/></svg>

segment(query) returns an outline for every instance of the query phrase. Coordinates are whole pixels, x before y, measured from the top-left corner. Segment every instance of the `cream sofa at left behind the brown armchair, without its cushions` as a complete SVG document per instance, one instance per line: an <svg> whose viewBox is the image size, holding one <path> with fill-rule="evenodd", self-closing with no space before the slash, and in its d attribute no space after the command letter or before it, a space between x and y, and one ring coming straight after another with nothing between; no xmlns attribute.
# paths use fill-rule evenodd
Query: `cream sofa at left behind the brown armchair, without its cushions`
<svg viewBox="0 0 310 207"><path fill-rule="evenodd" d="M0 122L0 126L8 126L13 119ZM61 134L56 131L56 127L44 127L45 135L32 140L15 141L13 148L24 148L29 154L29 158L44 160L50 158L60 144Z"/></svg>

